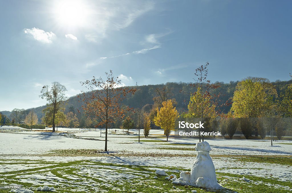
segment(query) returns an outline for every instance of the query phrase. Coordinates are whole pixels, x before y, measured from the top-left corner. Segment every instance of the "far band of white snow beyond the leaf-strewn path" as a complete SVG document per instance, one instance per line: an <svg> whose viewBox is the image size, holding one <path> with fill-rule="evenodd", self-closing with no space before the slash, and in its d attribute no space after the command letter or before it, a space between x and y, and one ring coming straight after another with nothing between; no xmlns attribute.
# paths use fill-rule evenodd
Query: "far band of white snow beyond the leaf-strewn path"
<svg viewBox="0 0 292 193"><path fill-rule="evenodd" d="M59 128L58 133L39 132L39 131L20 131L15 133L0 133L0 155L31 155L45 154L54 149L104 149L104 134L100 136L100 131L85 131L68 128L62 130ZM121 130L121 129L120 129ZM67 132L65 132L67 131ZM162 130L158 130L163 132ZM158 132L152 131L152 133ZM77 137L76 137L77 136ZM84 137L82 137L84 136ZM154 136L155 137L155 136ZM84 139L83 139L84 138ZM89 138L96 140L88 140ZM184 154L194 155L195 151L169 150L161 149L162 147L172 147L171 145L161 145L165 138L151 138L157 142L138 143L138 137L135 135L108 135L108 150L117 153L145 153L145 154ZM19 143L21 141L21 143ZM197 138L170 138L169 143L184 143L190 146L173 146L182 148L194 148ZM270 145L269 140L238 140L238 139L205 139L211 145L211 155L292 155L292 148L289 144L280 144L283 141L274 141L274 146ZM285 143L289 143L286 141ZM17 144L17 145L16 145ZM36 145L37 144L37 145Z"/></svg>

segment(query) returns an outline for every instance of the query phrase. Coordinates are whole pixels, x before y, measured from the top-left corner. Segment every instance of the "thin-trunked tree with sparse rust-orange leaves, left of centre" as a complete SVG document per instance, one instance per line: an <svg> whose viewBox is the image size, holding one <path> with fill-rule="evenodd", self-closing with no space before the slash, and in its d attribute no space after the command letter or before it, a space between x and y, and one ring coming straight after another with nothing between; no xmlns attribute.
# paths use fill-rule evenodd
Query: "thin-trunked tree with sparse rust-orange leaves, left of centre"
<svg viewBox="0 0 292 193"><path fill-rule="evenodd" d="M114 123L117 118L124 116L129 107L121 108L121 102L126 98L128 93L134 94L136 89L128 87L119 87L121 80L114 77L112 70L105 73L107 78L93 78L81 82L89 92L84 92L79 96L84 105L84 113L99 119L98 125L105 124L105 151L107 151L107 128L110 123ZM98 89L98 90L96 90Z"/></svg>

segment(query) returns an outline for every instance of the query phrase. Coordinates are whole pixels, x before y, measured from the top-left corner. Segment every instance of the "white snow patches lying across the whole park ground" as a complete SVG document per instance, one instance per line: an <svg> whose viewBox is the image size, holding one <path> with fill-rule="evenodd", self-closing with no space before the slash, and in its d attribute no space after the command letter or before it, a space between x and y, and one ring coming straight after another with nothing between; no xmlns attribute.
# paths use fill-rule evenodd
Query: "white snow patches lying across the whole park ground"
<svg viewBox="0 0 292 193"><path fill-rule="evenodd" d="M170 138L169 142L163 142L165 138L149 138L138 143L136 135L137 130L130 130L130 135L121 135L122 129L109 130L108 150L111 151L109 156L99 157L61 157L61 156L44 156L51 150L56 149L96 149L103 150L105 130L91 129L69 129L58 128L59 132L52 133L49 130L36 131L19 129L15 127L3 127L0 129L0 180L4 179L1 172L17 172L26 169L38 169L36 173L21 172L16 176L18 180L14 183L32 183L33 185L60 186L77 188L76 190L85 190L86 186L93 187L92 190L99 191L100 186L110 187L111 183L119 181L123 184L131 180L137 183L150 183L147 181L148 175L155 174L155 170L160 167L184 168L184 171L190 171L192 162L196 155L194 150L169 150L162 148L194 148L198 142L197 138ZM7 132L9 131L9 133ZM142 136L142 131L140 131ZM163 130L151 130L152 137L163 134ZM98 140L88 140L88 139ZM144 142L144 140L157 140L157 142ZM163 141L161 141L163 140ZM241 176L257 176L267 179L277 179L278 181L292 182L291 166L281 164L268 164L257 162L241 162L237 155L285 155L292 157L292 145L290 141L274 141L274 146L270 146L269 140L229 140L207 138L205 141L211 145L210 155L231 155L234 157L212 157L215 170L220 173L231 173ZM20 143L21 142L21 143ZM188 145L175 145L175 144ZM287 144L281 144L287 143ZM173 144L173 145L163 145ZM131 156L131 153L141 154L141 156ZM115 156L116 154L128 154L128 156ZM33 156L32 156L33 155ZM155 155L155 156L154 156ZM171 156L175 155L175 156ZM23 161L22 161L23 160ZM51 172L49 166L58 163L82 161L82 165L73 164L58 171L62 177L56 176ZM94 164L96 163L96 164ZM100 165L120 164L147 166L150 172L135 171L135 169L124 168L120 166ZM44 169L42 169L44 168ZM67 170L74 170L73 173L66 173ZM77 172L78 171L78 172ZM171 174L173 170L167 170ZM8 174L7 174L8 175ZM86 178L96 178L99 181L90 181ZM242 181L240 178L226 177L228 183L231 181ZM138 181L140 180L140 181ZM144 180L144 181L143 181ZM143 181L143 183L142 183ZM12 182L13 183L13 182ZM245 181L241 183L261 184L258 181ZM151 184L151 183L150 183ZM292 187L282 187L278 184L267 184L269 187L278 187L287 191L292 191ZM28 187L25 187L28 188ZM158 187L161 188L161 187ZM34 187L36 190L36 187ZM119 191L117 189L117 191Z"/></svg>

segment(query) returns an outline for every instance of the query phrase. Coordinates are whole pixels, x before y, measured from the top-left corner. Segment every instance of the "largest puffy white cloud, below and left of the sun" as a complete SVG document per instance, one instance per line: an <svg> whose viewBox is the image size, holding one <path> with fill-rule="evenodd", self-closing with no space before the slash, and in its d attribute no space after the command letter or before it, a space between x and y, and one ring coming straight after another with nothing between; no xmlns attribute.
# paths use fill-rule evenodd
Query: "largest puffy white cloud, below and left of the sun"
<svg viewBox="0 0 292 193"><path fill-rule="evenodd" d="M53 32L46 32L39 28L24 29L25 34L32 35L32 37L42 43L52 43L52 39L56 37Z"/></svg>

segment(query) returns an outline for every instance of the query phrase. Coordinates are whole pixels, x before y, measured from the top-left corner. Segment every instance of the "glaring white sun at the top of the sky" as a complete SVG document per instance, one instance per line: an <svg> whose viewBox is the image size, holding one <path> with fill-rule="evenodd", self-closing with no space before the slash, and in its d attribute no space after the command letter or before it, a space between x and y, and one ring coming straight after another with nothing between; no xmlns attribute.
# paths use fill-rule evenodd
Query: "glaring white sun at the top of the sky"
<svg viewBox="0 0 292 193"><path fill-rule="evenodd" d="M55 18L65 27L81 27L88 22L90 8L82 0L57 1Z"/></svg>

